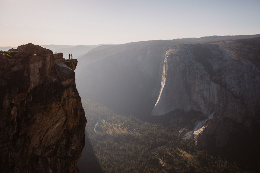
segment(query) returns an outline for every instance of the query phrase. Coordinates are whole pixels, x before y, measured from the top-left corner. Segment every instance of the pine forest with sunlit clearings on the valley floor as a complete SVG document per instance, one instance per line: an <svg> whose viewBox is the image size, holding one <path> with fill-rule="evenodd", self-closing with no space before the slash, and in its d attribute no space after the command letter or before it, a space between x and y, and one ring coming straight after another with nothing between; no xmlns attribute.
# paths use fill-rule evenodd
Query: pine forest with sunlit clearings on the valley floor
<svg viewBox="0 0 260 173"><path fill-rule="evenodd" d="M83 100L82 105L90 142L86 145L92 147L98 162L93 165L94 158L85 157L83 162L89 170L99 167L96 170L100 172L248 172L235 162L198 149L193 139L184 140L178 126L118 115L90 100Z"/></svg>

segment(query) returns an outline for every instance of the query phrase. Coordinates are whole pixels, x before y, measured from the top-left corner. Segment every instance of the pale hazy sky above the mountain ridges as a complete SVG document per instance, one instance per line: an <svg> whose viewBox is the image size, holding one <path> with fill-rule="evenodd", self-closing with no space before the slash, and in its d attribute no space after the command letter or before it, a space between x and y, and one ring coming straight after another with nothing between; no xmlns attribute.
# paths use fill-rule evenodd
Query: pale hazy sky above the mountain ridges
<svg viewBox="0 0 260 173"><path fill-rule="evenodd" d="M260 33L259 0L0 0L0 46Z"/></svg>

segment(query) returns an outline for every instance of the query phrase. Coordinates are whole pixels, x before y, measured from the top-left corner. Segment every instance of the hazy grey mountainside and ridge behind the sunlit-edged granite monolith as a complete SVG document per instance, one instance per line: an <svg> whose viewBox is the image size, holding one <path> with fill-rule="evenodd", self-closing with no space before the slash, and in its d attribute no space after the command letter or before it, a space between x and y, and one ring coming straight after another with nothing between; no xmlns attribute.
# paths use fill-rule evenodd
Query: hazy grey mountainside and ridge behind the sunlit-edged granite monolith
<svg viewBox="0 0 260 173"><path fill-rule="evenodd" d="M99 102L117 113L147 116L159 96L167 50L180 43L259 36L211 36L99 46L78 58L77 89L81 98Z"/></svg>

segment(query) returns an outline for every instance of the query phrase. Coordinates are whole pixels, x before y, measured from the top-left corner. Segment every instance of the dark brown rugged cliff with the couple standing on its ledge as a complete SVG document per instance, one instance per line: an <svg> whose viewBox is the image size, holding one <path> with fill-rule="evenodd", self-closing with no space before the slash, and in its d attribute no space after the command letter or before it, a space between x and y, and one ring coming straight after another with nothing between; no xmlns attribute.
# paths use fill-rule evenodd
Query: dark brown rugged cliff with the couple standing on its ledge
<svg viewBox="0 0 260 173"><path fill-rule="evenodd" d="M0 172L78 172L86 118L77 60L62 56L32 43L1 52Z"/></svg>

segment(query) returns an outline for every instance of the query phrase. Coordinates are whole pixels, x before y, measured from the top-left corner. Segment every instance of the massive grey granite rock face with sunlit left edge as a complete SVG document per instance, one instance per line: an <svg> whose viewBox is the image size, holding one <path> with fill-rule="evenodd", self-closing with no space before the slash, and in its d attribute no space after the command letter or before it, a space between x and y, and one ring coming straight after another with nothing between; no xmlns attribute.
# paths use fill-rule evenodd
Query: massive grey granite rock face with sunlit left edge
<svg viewBox="0 0 260 173"><path fill-rule="evenodd" d="M166 53L160 95L152 115L175 109L208 115L193 129L199 147L225 146L231 133L254 133L259 125L259 65L236 58L231 51L233 44L182 44Z"/></svg>

